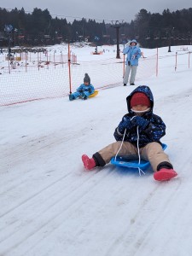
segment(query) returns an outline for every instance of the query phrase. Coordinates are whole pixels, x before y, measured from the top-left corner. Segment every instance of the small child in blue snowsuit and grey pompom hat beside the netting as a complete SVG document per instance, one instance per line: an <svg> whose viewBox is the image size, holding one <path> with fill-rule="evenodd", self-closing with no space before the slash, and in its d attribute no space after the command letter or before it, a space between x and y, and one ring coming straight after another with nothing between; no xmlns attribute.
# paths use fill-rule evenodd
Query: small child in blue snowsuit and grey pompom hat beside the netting
<svg viewBox="0 0 192 256"><path fill-rule="evenodd" d="M73 101L77 98L82 98L83 100L86 100L91 94L93 94L95 91L92 84L90 84L90 77L88 73L84 74L84 84L81 84L77 91L73 92L69 95L69 101Z"/></svg>

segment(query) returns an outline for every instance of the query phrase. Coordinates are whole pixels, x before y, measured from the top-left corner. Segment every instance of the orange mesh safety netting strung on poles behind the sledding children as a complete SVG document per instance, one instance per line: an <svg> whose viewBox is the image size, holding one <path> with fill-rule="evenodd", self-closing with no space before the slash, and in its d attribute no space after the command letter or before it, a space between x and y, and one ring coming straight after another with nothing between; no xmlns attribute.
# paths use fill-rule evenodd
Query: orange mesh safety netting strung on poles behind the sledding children
<svg viewBox="0 0 192 256"><path fill-rule="evenodd" d="M95 89L122 85L124 63L120 59L110 58L102 61L77 61L70 55L70 75L68 56L44 55L38 53L27 56L23 61L3 61L0 63L0 106L20 102L29 102L45 98L67 96L83 83L84 73L90 76ZM37 53L36 53L37 57ZM30 61L31 58L31 61ZM141 58L137 68L137 81L155 75L156 55Z"/></svg>

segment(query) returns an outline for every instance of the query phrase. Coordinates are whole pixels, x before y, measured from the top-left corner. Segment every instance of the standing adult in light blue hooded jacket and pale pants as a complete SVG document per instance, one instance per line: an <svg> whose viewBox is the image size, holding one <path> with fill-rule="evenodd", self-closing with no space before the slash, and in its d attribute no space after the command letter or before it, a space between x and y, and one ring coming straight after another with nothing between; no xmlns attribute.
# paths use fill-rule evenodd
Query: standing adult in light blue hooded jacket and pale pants
<svg viewBox="0 0 192 256"><path fill-rule="evenodd" d="M135 85L138 59L141 57L141 49L137 47L137 41L135 39L131 40L129 45L123 50L123 54L127 55L125 61L125 74L124 74L124 86L128 83L129 75L131 72L130 85Z"/></svg>

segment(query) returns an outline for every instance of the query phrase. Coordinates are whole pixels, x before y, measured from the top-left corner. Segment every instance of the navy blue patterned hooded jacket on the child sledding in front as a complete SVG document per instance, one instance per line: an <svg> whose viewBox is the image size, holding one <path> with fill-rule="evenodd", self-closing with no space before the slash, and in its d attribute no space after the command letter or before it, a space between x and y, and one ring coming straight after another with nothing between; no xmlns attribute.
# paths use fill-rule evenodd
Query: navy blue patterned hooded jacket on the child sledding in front
<svg viewBox="0 0 192 256"><path fill-rule="evenodd" d="M146 85L138 86L135 90L131 92L129 96L126 97L128 113L125 114L119 126L114 131L114 137L116 141L122 141L125 129L125 142L132 143L137 147L137 125L134 125L134 122L131 121L135 113L131 110L131 96L135 92L143 92L148 96L151 102L151 108L148 112L143 113L142 117L147 122L147 125L144 127L139 127L139 148L143 148L148 143L160 143L160 138L166 134L166 125L160 116L153 113L154 108L154 96L152 91ZM161 143L160 143L161 144Z"/></svg>

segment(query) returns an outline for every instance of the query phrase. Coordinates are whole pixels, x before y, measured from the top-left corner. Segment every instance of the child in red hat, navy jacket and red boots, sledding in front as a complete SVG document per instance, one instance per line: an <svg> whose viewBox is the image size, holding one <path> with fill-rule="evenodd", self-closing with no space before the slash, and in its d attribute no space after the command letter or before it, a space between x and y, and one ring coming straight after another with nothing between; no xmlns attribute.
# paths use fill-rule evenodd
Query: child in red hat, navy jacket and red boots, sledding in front
<svg viewBox="0 0 192 256"><path fill-rule="evenodd" d="M148 160L155 180L169 180L177 176L160 143L160 138L166 134L166 125L153 113L154 97L149 87L138 86L127 96L126 102L128 113L114 131L117 142L102 148L92 158L82 155L84 167L91 170L96 166L105 166L119 151L120 156L135 158L140 154L143 160Z"/></svg>

